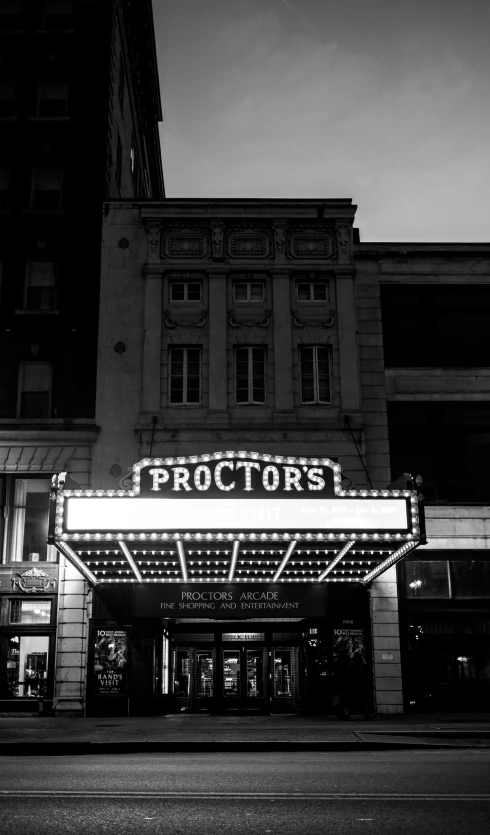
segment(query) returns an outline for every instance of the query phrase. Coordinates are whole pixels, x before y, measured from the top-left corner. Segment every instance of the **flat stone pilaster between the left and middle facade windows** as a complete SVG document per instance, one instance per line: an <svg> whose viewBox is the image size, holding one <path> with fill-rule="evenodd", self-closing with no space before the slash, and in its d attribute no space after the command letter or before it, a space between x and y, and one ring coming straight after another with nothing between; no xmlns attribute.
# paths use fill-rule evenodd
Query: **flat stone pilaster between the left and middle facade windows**
<svg viewBox="0 0 490 835"><path fill-rule="evenodd" d="M209 418L226 423L226 272L209 274Z"/></svg>

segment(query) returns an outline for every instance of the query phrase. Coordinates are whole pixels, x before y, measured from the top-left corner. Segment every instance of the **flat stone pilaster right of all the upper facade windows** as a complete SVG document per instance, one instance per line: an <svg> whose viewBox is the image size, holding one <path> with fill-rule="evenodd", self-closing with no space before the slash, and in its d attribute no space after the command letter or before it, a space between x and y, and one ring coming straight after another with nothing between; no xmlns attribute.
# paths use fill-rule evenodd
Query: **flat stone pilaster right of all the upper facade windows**
<svg viewBox="0 0 490 835"><path fill-rule="evenodd" d="M361 408L359 395L359 359L354 274L337 274L337 311L339 323L340 396L342 412L350 414Z"/></svg>

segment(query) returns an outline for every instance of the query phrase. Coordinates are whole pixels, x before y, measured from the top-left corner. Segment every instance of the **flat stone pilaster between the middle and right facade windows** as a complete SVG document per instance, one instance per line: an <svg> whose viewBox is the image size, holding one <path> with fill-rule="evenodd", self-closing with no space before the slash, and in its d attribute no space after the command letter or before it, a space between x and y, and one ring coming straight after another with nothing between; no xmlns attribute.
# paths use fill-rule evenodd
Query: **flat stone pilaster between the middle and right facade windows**
<svg viewBox="0 0 490 835"><path fill-rule="evenodd" d="M272 276L274 311L275 415L278 422L294 420L293 340L291 333L291 288L289 273Z"/></svg>

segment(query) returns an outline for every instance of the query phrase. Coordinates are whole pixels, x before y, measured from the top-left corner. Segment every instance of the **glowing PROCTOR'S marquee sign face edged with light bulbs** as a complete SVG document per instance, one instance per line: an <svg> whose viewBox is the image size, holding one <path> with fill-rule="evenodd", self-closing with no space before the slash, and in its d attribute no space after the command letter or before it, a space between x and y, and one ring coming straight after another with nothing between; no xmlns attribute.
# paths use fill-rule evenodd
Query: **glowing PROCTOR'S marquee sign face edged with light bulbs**
<svg viewBox="0 0 490 835"><path fill-rule="evenodd" d="M130 490L60 491L62 539L292 537L403 539L418 534L408 490L343 490L328 458L217 452L145 459ZM232 533L234 532L234 533ZM256 533L257 532L257 533Z"/></svg>

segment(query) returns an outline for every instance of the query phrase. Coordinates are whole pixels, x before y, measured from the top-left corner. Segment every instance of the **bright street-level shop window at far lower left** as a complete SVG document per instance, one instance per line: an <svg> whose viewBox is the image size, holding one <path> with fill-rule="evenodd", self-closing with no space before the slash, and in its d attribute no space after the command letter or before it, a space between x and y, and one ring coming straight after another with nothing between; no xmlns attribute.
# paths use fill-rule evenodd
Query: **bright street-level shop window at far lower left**
<svg viewBox="0 0 490 835"><path fill-rule="evenodd" d="M7 691L10 697L39 699L46 695L49 637L13 635L8 639Z"/></svg>

